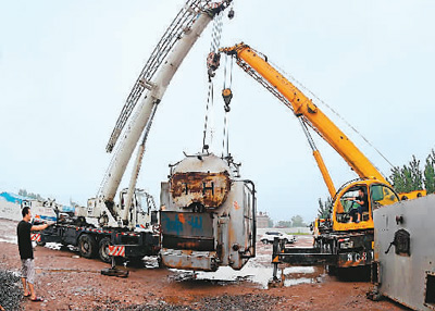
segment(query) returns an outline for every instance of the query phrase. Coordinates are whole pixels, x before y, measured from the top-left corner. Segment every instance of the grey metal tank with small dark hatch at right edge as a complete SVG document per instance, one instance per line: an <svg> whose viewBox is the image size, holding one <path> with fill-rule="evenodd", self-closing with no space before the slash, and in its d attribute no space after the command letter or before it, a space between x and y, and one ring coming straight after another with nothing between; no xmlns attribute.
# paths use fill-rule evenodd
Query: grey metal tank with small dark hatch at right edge
<svg viewBox="0 0 435 311"><path fill-rule="evenodd" d="M435 310L435 195L374 210L372 299Z"/></svg>

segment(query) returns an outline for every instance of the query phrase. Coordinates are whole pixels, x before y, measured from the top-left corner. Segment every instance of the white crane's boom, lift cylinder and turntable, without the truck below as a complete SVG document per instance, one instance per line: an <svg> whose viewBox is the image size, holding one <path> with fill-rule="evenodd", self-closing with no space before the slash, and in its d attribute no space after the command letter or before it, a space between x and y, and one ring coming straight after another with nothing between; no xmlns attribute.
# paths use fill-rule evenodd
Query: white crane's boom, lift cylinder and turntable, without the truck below
<svg viewBox="0 0 435 311"><path fill-rule="evenodd" d="M135 189L152 119L167 86L191 47L214 16L231 2L232 0L216 3L188 0L145 64L107 145L108 152L112 152L116 146L112 161L97 197L88 200L86 216L97 219L100 226L134 228L138 224L149 223L147 213L136 211L138 199ZM115 204L116 191L140 138L129 186L121 191L120 203Z"/></svg>

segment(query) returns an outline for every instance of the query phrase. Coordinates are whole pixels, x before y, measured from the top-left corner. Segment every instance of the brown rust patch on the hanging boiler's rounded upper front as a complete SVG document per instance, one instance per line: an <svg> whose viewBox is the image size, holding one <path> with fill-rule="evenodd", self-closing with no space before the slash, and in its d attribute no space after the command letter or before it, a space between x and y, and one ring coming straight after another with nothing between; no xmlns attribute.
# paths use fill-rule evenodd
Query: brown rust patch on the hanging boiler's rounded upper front
<svg viewBox="0 0 435 311"><path fill-rule="evenodd" d="M227 172L175 173L170 181L172 198L179 207L200 203L206 208L217 208L226 200L229 189Z"/></svg>

